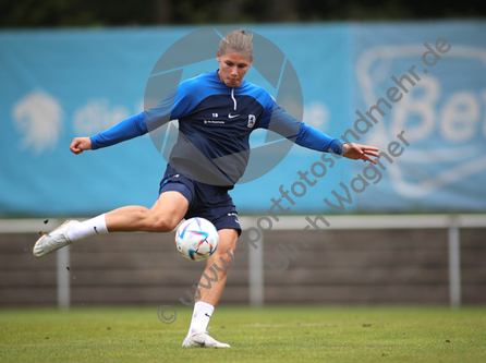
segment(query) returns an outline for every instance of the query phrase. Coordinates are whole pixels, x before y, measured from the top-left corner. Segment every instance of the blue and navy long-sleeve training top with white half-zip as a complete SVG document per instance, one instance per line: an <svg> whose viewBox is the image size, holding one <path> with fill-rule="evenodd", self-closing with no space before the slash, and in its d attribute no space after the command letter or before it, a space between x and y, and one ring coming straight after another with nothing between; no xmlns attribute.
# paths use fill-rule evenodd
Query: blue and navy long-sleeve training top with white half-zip
<svg viewBox="0 0 486 363"><path fill-rule="evenodd" d="M236 183L248 161L250 134L256 129L275 131L315 150L342 153L338 138L287 113L264 88L246 81L229 87L219 80L218 71L182 82L155 108L93 136L92 147L144 135L175 119L180 133L169 164L190 178L194 170L204 170L220 173L218 178L230 185Z"/></svg>

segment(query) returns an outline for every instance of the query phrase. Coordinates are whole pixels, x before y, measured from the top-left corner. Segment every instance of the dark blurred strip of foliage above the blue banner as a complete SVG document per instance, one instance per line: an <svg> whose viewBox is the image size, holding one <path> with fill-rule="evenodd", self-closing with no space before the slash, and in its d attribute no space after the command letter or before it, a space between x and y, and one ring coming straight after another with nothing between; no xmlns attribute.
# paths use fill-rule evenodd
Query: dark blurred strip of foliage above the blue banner
<svg viewBox="0 0 486 363"><path fill-rule="evenodd" d="M2 1L2 27L136 26L231 23L478 20L479 0L107 0Z"/></svg>

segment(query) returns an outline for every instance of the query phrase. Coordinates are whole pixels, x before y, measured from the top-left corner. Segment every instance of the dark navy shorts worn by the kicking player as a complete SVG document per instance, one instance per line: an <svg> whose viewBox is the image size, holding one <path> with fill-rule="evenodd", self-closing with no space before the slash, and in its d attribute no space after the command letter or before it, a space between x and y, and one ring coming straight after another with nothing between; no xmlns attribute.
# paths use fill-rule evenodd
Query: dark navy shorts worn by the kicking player
<svg viewBox="0 0 486 363"><path fill-rule="evenodd" d="M197 182L168 165L160 182L159 195L163 192L179 192L184 195L189 202L185 219L203 217L215 225L217 230L230 228L235 229L238 235L241 234L236 207L227 187Z"/></svg>

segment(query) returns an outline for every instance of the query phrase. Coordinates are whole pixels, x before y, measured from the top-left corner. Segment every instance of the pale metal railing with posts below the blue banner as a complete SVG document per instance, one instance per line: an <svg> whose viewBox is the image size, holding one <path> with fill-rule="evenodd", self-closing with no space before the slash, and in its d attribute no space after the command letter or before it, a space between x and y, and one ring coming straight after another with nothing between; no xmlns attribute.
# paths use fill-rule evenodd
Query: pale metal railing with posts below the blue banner
<svg viewBox="0 0 486 363"><path fill-rule="evenodd" d="M314 219L316 216L309 216ZM307 225L305 216L280 217L272 225L272 231L303 230ZM326 229L448 229L449 250L449 292L450 305L461 305L461 263L460 229L486 228L486 214L474 215L368 215L368 216L325 216L329 222ZM257 226L258 217L241 217L242 227ZM50 219L49 226L59 226L61 219ZM40 219L0 219L0 233L37 233L42 227ZM51 228L51 227L50 227ZM252 305L264 304L264 235L260 234L257 249L248 245L250 302ZM65 266L70 263L70 249L57 252L58 305L70 306L70 278Z"/></svg>

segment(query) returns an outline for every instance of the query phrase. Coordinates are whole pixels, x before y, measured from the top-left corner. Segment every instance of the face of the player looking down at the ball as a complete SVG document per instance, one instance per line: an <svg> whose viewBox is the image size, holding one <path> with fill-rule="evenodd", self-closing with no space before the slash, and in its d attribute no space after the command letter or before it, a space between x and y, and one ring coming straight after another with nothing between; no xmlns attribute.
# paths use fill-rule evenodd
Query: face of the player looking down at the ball
<svg viewBox="0 0 486 363"><path fill-rule="evenodd" d="M221 56L218 50L216 59L219 62L218 75L221 82L229 87L241 86L246 72L252 66L252 62L238 51Z"/></svg>

